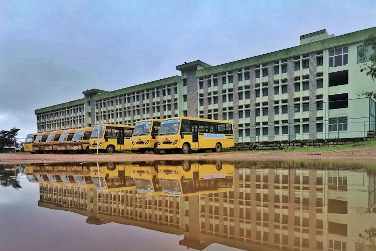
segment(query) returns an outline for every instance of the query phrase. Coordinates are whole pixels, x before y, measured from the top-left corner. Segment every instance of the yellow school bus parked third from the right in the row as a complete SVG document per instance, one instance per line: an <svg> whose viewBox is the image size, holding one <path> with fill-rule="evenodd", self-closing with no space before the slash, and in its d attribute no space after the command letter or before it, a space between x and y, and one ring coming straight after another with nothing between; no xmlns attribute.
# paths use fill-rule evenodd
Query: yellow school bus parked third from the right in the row
<svg viewBox="0 0 376 251"><path fill-rule="evenodd" d="M99 150L107 153L132 150L130 139L133 129L134 126L124 126L123 124L99 124L93 128L89 149L96 150L98 147Z"/></svg>

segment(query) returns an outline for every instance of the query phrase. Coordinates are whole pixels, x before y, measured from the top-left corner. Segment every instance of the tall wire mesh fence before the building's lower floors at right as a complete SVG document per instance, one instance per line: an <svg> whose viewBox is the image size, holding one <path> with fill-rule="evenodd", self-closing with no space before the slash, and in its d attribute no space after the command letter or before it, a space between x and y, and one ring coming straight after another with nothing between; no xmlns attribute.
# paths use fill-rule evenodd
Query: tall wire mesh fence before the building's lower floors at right
<svg viewBox="0 0 376 251"><path fill-rule="evenodd" d="M237 143L358 138L376 129L376 102L368 97L264 104L206 117L234 121Z"/></svg>

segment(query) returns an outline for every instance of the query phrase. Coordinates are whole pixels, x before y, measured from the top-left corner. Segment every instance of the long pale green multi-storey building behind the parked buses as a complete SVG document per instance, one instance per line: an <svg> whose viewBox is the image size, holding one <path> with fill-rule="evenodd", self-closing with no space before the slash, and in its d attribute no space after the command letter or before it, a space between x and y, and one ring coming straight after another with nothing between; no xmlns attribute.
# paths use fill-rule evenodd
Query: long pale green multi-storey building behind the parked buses
<svg viewBox="0 0 376 251"><path fill-rule="evenodd" d="M280 51L217 66L197 60L176 66L180 76L86 90L83 99L35 110L38 132L187 115L234 121L237 142L364 137L376 127L375 102L360 93L374 82L357 52L373 33L321 30Z"/></svg>

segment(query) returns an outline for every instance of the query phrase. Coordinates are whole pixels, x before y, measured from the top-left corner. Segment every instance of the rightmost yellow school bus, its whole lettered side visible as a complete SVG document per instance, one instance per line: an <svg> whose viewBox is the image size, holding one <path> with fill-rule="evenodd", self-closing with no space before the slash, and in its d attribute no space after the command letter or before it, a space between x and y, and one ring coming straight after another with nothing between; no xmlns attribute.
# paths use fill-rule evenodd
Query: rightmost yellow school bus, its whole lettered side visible
<svg viewBox="0 0 376 251"><path fill-rule="evenodd" d="M221 152L222 148L235 146L233 122L194 118L173 117L163 119L158 133L158 149L166 153L181 150Z"/></svg>

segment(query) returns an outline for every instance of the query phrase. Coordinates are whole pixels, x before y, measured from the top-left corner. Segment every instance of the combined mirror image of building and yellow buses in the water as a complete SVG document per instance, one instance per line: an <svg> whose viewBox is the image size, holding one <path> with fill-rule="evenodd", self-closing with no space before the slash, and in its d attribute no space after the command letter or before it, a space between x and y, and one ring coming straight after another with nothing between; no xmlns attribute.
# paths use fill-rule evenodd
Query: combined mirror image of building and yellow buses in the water
<svg viewBox="0 0 376 251"><path fill-rule="evenodd" d="M376 172L349 164L154 162L31 165L38 205L240 249L373 250Z"/></svg>

